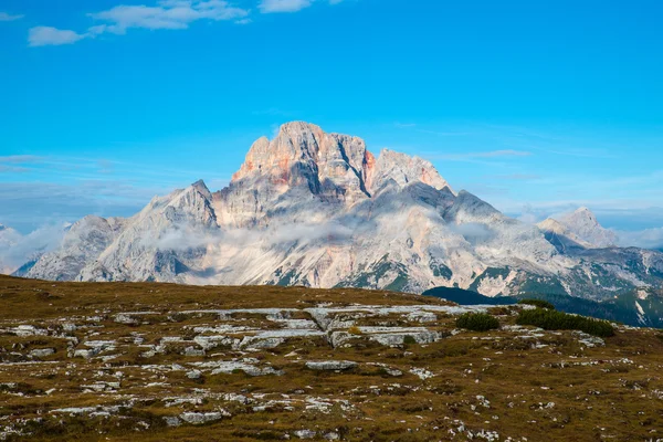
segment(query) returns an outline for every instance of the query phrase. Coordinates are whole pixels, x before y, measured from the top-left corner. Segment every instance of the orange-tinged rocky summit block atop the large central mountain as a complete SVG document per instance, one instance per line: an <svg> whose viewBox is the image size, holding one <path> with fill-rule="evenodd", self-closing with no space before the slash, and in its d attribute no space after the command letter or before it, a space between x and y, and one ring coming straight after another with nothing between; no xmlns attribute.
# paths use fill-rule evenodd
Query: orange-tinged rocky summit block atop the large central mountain
<svg viewBox="0 0 663 442"><path fill-rule="evenodd" d="M346 201L414 181L451 189L430 161L388 149L376 158L361 138L327 134L304 122L284 124L273 140L259 138L232 183L249 181L255 187L253 181L260 179L277 194L305 186L315 194Z"/></svg>

